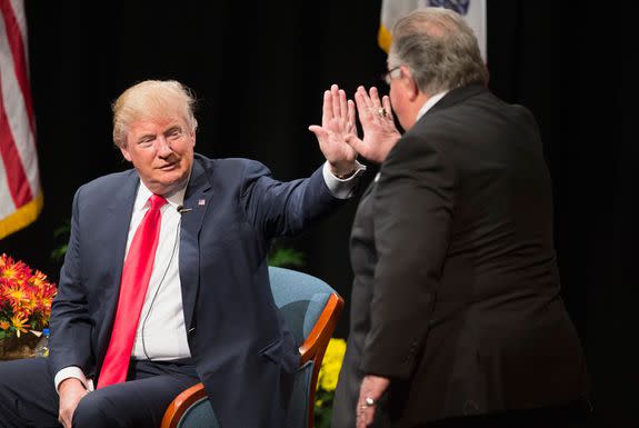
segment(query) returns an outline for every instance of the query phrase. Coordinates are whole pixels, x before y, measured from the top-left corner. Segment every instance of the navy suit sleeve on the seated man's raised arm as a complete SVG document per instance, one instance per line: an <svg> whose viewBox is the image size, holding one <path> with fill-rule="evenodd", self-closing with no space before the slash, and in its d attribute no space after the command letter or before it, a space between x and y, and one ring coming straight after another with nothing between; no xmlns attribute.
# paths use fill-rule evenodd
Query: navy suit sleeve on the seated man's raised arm
<svg viewBox="0 0 639 428"><path fill-rule="evenodd" d="M327 187L322 168L309 178L282 182L256 161L247 162L241 198L249 221L269 238L298 233L343 202Z"/></svg>

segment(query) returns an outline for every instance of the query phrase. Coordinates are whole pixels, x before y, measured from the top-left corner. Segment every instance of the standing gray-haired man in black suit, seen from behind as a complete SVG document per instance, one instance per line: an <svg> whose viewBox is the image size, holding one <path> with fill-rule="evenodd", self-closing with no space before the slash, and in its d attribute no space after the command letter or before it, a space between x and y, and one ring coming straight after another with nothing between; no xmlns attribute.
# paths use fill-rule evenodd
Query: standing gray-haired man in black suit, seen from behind
<svg viewBox="0 0 639 428"><path fill-rule="evenodd" d="M490 93L472 30L446 9L397 22L386 81L381 99L358 89L363 137L347 136L381 168L352 228L332 427L580 426L588 375L532 115Z"/></svg>

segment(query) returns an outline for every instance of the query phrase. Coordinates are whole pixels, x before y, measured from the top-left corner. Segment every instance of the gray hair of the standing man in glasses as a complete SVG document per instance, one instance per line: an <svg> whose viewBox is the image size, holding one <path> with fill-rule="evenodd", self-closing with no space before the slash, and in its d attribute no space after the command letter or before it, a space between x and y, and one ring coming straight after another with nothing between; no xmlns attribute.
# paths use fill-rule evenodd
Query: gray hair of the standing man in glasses
<svg viewBox="0 0 639 428"><path fill-rule="evenodd" d="M397 21L388 64L406 64L428 94L488 82L472 29L461 16L442 8L417 9Z"/></svg>

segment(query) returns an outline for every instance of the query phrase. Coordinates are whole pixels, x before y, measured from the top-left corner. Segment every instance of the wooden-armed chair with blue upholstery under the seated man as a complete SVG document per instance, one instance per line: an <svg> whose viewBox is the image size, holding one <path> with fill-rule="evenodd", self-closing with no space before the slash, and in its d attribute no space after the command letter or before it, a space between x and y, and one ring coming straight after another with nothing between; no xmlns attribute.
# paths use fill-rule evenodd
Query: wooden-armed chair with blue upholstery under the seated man
<svg viewBox="0 0 639 428"><path fill-rule="evenodd" d="M296 270L269 267L269 277L276 305L300 351L286 428L312 428L319 369L343 299L322 280ZM219 428L202 384L173 399L161 428Z"/></svg>

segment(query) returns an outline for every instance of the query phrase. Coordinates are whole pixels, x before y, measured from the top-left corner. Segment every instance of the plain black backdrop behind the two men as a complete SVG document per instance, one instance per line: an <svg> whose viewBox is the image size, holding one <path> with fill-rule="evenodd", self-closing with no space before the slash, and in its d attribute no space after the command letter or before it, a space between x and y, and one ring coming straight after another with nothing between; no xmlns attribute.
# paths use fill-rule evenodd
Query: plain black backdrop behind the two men
<svg viewBox="0 0 639 428"><path fill-rule="evenodd" d="M593 425L637 427L633 23L621 2L612 3L616 10L599 2L489 3L490 88L531 109L545 140L563 292L593 378ZM130 84L173 78L191 87L199 98L197 151L258 159L282 180L308 176L323 160L307 127L320 121L326 88L387 90L379 79L386 71L379 0L26 6L46 202L33 225L0 241L0 252L56 281L60 262L49 255L63 242L53 230L69 219L74 190L128 168L111 142L110 102ZM356 207L357 198L280 242L302 251L302 270L347 302ZM348 335L348 319L347 308L336 336Z"/></svg>

